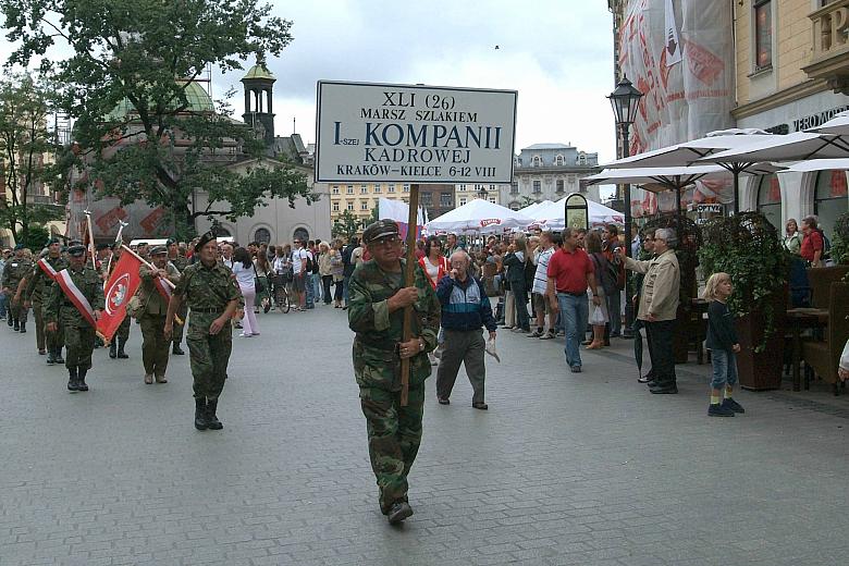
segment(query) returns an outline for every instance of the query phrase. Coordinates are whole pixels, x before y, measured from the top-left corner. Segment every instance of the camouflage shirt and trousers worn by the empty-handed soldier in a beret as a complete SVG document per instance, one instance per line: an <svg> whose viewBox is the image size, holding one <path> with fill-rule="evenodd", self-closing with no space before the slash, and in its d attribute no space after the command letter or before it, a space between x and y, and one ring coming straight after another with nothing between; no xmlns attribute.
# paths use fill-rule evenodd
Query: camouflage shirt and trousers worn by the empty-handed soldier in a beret
<svg viewBox="0 0 849 566"><path fill-rule="evenodd" d="M218 334L210 334L209 327L231 300L242 298L242 293L230 268L220 263L207 267L198 261L185 269L174 296L182 297L192 310L186 344L195 398L217 399L227 378L232 327L224 324Z"/></svg>

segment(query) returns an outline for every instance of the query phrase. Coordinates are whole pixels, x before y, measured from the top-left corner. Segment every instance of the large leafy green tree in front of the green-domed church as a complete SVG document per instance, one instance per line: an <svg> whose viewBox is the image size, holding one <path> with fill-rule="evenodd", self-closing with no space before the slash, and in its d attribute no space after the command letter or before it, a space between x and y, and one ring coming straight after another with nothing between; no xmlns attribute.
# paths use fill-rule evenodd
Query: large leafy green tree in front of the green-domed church
<svg viewBox="0 0 849 566"><path fill-rule="evenodd" d="M177 233L197 217L250 214L267 198L316 195L290 163L257 161L247 174L233 162L264 155L260 136L232 120L232 109L198 108L197 84L208 66L226 73L292 40L291 22L261 0L0 0L7 38L17 42L8 65L29 65L54 44L67 59L41 67L53 74L61 108L74 120L75 184L98 197L163 206ZM231 93L232 95L232 93ZM214 110L214 111L212 111ZM272 160L274 161L274 160ZM197 210L194 193L209 207Z"/></svg>

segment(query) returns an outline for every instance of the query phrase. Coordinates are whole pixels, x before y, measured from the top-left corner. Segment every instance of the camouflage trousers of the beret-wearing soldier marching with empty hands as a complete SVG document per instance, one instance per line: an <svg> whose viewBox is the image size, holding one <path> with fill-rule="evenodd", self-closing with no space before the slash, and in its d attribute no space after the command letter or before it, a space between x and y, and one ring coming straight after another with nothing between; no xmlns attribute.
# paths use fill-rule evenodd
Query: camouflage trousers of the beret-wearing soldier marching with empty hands
<svg viewBox="0 0 849 566"><path fill-rule="evenodd" d="M232 327L224 324L221 332L210 334L209 325L217 317L193 312L188 321L186 344L194 378L192 389L196 398L218 398L227 379L227 362L233 349Z"/></svg>

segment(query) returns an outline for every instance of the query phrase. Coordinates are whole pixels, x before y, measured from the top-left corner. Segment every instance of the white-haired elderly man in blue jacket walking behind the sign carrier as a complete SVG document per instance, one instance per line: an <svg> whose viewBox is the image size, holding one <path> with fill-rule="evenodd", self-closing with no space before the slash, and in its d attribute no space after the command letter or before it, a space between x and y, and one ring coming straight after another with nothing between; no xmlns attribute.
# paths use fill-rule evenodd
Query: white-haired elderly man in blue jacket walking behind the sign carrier
<svg viewBox="0 0 849 566"><path fill-rule="evenodd" d="M469 273L471 260L463 250L451 255L451 273L436 286L436 297L442 305L442 328L445 331L440 367L436 369L436 401L450 403L451 391L457 379L460 364L472 389L471 406L487 410L483 384L487 367L483 354L487 343L481 327L487 327L490 337L495 337L495 318L483 284Z"/></svg>

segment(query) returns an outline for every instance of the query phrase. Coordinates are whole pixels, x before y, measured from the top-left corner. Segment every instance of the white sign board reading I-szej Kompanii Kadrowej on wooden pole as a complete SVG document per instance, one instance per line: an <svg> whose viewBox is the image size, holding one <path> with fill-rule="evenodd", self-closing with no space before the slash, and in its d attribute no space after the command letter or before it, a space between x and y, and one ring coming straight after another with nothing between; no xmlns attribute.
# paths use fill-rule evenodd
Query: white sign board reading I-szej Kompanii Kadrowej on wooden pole
<svg viewBox="0 0 849 566"><path fill-rule="evenodd" d="M319 81L317 183L510 183L515 90Z"/></svg>

